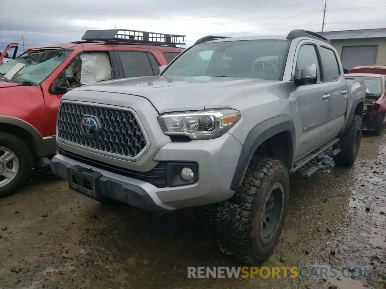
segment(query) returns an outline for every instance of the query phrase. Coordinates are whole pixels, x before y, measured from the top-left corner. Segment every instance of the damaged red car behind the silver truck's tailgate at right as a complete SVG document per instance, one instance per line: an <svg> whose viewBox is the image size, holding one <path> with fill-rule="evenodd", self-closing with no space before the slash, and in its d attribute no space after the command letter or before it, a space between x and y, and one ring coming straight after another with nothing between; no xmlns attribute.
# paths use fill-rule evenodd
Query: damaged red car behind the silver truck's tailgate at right
<svg viewBox="0 0 386 289"><path fill-rule="evenodd" d="M363 114L363 129L380 135L386 124L386 66L357 66L346 78L360 77L367 87Z"/></svg>

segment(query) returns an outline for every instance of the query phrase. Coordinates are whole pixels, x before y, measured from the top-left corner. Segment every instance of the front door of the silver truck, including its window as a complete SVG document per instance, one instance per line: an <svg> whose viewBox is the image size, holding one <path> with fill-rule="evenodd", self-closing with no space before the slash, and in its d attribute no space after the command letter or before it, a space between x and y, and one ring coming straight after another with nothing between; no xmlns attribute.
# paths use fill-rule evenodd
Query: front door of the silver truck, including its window
<svg viewBox="0 0 386 289"><path fill-rule="evenodd" d="M329 94L329 86L323 82L322 61L316 43L308 40L300 41L296 48L295 59L293 67L295 76L300 76L303 68L315 64L318 78L315 84L296 86L294 82L298 109L296 128L301 130L300 139L298 139L299 149L295 158L299 159L328 141L326 136L328 99L323 99L323 96Z"/></svg>

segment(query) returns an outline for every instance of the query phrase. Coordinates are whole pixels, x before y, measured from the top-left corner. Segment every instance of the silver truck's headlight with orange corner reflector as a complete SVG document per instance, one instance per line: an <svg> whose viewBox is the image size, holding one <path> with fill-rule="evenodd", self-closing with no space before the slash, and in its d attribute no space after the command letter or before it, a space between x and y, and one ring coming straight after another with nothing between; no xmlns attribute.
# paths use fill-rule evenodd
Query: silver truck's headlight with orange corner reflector
<svg viewBox="0 0 386 289"><path fill-rule="evenodd" d="M234 109L216 109L165 113L158 116L164 133L174 136L189 136L191 139L212 139L229 131L240 119Z"/></svg>

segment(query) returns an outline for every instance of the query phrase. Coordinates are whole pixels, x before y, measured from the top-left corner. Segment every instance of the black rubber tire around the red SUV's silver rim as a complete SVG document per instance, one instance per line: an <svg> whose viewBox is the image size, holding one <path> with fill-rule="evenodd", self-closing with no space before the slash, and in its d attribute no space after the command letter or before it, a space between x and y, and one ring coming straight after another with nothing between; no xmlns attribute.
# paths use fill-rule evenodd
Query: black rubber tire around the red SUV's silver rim
<svg viewBox="0 0 386 289"><path fill-rule="evenodd" d="M0 185L0 198L12 195L22 188L29 177L32 167L31 152L27 144L20 138L13 134L0 132L0 148L2 147L12 151L16 155L19 166L17 173L12 180L6 185ZM2 154L3 153L0 152L0 158ZM0 183L2 180L3 178L1 177Z"/></svg>

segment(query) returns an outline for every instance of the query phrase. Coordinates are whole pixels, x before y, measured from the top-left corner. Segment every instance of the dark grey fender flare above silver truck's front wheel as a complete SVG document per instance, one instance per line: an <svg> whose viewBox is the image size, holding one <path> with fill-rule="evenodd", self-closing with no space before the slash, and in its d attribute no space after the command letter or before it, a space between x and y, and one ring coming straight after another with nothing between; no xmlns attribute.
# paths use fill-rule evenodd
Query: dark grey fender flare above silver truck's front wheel
<svg viewBox="0 0 386 289"><path fill-rule="evenodd" d="M251 129L247 138L244 141L243 148L240 153L240 158L237 163L237 167L230 185L231 190L237 190L241 185L245 172L249 166L252 156L256 149L272 136L288 131L291 134L292 147L288 148L289 164L293 165L293 156L295 155L295 124L292 117L289 114L282 114L274 118L267 119L262 123L257 124Z"/></svg>

